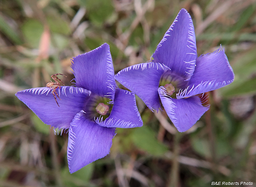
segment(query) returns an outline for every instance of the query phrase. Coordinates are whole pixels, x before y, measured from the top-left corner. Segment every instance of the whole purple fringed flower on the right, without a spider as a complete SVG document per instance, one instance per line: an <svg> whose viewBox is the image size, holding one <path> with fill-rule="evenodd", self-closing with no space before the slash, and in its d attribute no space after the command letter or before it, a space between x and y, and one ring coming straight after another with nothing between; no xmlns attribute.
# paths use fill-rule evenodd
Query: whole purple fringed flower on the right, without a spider
<svg viewBox="0 0 256 187"><path fill-rule="evenodd" d="M115 78L148 108L158 110L162 104L180 132L191 128L209 109L202 105L202 93L234 80L221 46L213 53L197 57L194 26L185 9L180 10L152 58L152 62L123 69Z"/></svg>

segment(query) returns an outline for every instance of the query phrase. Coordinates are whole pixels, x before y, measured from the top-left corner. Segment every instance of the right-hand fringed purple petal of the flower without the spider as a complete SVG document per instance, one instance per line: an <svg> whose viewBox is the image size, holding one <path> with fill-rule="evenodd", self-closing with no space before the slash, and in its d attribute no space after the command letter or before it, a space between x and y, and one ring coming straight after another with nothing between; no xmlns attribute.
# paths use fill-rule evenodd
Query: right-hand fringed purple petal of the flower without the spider
<svg viewBox="0 0 256 187"><path fill-rule="evenodd" d="M216 90L233 82L234 73L228 63L224 49L201 55L196 59L196 69L185 90L180 90L177 98L190 97Z"/></svg>

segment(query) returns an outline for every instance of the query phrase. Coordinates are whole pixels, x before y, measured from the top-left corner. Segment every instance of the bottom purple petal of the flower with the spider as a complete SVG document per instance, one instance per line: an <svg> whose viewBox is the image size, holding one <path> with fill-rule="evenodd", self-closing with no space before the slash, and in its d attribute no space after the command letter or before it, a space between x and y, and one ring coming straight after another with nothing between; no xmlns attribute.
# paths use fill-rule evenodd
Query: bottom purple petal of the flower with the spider
<svg viewBox="0 0 256 187"><path fill-rule="evenodd" d="M84 117L81 111L70 123L68 132L68 167L70 173L105 157L112 145L116 128L101 127Z"/></svg>

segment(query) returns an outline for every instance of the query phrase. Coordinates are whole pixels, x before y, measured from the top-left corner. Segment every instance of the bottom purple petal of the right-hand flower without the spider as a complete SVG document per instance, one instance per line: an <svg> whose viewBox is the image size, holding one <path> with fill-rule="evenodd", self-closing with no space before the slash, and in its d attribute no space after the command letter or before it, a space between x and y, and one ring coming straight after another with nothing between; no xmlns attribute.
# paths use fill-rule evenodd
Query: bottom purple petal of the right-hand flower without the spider
<svg viewBox="0 0 256 187"><path fill-rule="evenodd" d="M210 107L204 107L199 96L172 99L163 86L158 92L167 115L180 132L190 129Z"/></svg>

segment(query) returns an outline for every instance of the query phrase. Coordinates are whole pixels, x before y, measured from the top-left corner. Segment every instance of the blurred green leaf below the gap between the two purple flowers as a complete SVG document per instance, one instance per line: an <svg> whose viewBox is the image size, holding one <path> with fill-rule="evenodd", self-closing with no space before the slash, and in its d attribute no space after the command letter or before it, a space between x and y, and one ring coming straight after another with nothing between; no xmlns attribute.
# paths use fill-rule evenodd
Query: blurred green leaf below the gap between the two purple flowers
<svg viewBox="0 0 256 187"><path fill-rule="evenodd" d="M147 126L135 128L132 140L137 147L155 156L161 156L168 151L168 147L159 142L156 133Z"/></svg>

